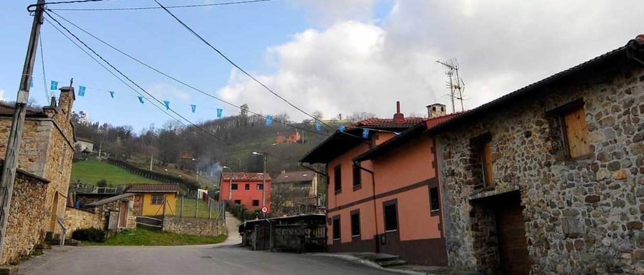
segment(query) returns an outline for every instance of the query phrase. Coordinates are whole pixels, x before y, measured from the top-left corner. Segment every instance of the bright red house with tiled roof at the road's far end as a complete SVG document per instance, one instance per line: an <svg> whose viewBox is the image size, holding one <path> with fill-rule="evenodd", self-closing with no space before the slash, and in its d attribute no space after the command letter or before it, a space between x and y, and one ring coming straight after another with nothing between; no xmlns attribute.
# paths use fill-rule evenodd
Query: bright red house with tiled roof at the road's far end
<svg viewBox="0 0 644 275"><path fill-rule="evenodd" d="M247 172L223 172L219 184L220 199L243 204L248 209L261 209L262 206L266 206L270 211L270 175L268 173L266 186L263 186L263 173ZM263 190L265 204L262 203L261 198Z"/></svg>

